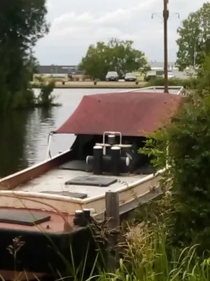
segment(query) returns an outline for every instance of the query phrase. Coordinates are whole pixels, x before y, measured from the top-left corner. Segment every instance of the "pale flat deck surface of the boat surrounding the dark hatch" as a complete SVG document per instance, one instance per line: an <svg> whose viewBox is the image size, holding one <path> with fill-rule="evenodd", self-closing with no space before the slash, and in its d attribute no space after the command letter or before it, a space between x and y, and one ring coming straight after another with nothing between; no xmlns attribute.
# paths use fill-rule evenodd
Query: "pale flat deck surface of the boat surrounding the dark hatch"
<svg viewBox="0 0 210 281"><path fill-rule="evenodd" d="M87 171L76 171L68 169L52 169L43 176L34 178L25 185L21 185L15 190L28 191L28 192L42 192L57 195L66 195L85 199L87 197L94 197L97 195L103 195L109 190L119 190L140 178L144 178L144 174L125 174L125 176L95 176L91 172ZM76 177L88 177L88 185L80 183L77 184L66 184L67 181L73 180ZM89 178L90 177L90 178ZM116 180L108 186L96 186L95 180L106 181ZM92 183L91 183L92 181Z"/></svg>

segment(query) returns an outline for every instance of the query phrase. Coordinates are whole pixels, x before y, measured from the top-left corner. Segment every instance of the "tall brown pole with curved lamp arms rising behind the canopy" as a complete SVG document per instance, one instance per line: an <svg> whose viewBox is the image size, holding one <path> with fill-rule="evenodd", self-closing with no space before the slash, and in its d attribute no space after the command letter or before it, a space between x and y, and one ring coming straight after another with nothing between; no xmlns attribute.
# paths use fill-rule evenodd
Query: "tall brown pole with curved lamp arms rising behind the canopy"
<svg viewBox="0 0 210 281"><path fill-rule="evenodd" d="M163 21L164 21L164 79L165 79L165 93L169 93L169 81L168 81L168 37L167 37L167 23L169 18L169 10L167 4L169 0L163 0Z"/></svg>

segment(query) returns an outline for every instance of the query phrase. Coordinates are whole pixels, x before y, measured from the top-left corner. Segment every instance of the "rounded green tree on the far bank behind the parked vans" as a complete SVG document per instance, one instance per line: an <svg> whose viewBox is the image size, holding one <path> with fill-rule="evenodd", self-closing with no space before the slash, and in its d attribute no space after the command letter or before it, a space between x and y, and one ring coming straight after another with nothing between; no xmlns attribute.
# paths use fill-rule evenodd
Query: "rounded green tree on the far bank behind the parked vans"
<svg viewBox="0 0 210 281"><path fill-rule="evenodd" d="M133 43L113 38L108 44L99 41L96 46L90 45L79 68L93 79L104 79L108 71L117 71L121 76L144 68L147 63L144 53L133 48Z"/></svg>

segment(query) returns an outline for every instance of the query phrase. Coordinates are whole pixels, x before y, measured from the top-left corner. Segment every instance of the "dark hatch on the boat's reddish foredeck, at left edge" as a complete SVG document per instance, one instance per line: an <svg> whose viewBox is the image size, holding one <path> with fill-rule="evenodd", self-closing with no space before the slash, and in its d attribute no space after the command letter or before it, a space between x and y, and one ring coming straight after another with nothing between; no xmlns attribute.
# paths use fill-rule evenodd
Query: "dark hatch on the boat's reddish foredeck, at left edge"
<svg viewBox="0 0 210 281"><path fill-rule="evenodd" d="M34 226L50 221L51 216L29 210L0 210L0 223L13 223L21 226Z"/></svg>

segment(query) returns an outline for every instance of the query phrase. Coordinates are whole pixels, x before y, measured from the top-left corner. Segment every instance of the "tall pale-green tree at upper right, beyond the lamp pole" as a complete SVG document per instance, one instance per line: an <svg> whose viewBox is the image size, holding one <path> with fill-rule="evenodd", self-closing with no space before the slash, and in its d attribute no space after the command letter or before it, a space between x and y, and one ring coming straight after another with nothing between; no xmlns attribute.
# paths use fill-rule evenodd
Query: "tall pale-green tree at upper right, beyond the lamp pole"
<svg viewBox="0 0 210 281"><path fill-rule="evenodd" d="M179 39L176 43L179 51L176 63L179 65L179 70L200 65L204 55L210 52L209 19L210 3L208 2L195 13L190 13L188 18L183 20L182 27L177 30Z"/></svg>

